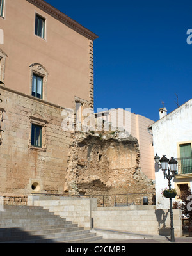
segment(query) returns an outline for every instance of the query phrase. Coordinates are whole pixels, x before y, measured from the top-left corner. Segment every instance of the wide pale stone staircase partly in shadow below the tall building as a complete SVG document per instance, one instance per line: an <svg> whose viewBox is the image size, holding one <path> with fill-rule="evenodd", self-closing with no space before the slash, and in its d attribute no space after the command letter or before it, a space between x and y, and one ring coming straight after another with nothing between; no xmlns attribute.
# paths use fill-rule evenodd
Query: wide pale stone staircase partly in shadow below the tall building
<svg viewBox="0 0 192 256"><path fill-rule="evenodd" d="M0 243L92 243L99 239L42 207L7 205L0 211Z"/></svg>

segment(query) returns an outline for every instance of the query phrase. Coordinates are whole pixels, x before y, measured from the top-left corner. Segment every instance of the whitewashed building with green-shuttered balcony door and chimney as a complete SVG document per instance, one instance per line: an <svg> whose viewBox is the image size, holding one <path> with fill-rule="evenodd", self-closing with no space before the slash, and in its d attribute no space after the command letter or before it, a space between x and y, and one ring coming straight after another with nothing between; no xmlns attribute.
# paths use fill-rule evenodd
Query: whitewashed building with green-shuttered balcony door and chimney
<svg viewBox="0 0 192 256"><path fill-rule="evenodd" d="M192 188L192 99L167 114L166 108L159 109L160 119L150 125L153 134L154 156L166 155L177 161L177 175L172 179L172 188L181 195L187 186ZM156 164L156 205L158 209L169 207L169 200L161 195L168 188L168 180ZM176 196L175 200L179 200Z"/></svg>

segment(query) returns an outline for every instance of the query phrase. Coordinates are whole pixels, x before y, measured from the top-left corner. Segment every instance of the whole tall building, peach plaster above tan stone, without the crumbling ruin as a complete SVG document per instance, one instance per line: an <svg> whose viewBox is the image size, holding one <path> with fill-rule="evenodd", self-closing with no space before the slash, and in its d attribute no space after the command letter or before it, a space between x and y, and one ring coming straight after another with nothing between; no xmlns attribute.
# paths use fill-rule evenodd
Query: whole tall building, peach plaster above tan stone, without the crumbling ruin
<svg viewBox="0 0 192 256"><path fill-rule="evenodd" d="M71 143L63 109L93 108L98 36L43 0L0 3L0 196L8 204L63 193Z"/></svg>

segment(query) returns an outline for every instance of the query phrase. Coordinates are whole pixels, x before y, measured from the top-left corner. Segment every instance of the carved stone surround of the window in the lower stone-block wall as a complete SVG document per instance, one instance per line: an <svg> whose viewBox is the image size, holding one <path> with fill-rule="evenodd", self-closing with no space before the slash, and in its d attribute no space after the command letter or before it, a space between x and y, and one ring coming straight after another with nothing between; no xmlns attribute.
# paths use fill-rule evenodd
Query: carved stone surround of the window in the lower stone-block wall
<svg viewBox="0 0 192 256"><path fill-rule="evenodd" d="M46 146L46 126L47 126L47 120L45 120L45 118L40 115L40 114L35 114L35 115L31 115L29 116L30 120L29 120L29 144L28 144L28 148L30 150L38 150L38 151L42 151L42 152L46 152L47 150L47 146ZM42 147L35 147L33 145L31 145L31 127L32 124L34 125L39 125L42 127Z"/></svg>

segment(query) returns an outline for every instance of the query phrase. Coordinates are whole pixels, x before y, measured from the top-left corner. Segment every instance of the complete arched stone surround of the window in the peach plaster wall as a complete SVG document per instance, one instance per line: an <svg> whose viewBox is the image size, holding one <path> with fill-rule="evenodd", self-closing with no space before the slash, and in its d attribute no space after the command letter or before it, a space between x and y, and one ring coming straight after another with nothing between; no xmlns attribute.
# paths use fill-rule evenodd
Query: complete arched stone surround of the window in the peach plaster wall
<svg viewBox="0 0 192 256"><path fill-rule="evenodd" d="M32 83L33 83L33 74L36 74L37 76L43 77L43 85L42 85L42 100L47 100L47 78L48 78L48 72L46 68L39 64L39 63L33 63L30 66L30 86L29 86L29 94L31 95L32 92Z"/></svg>

